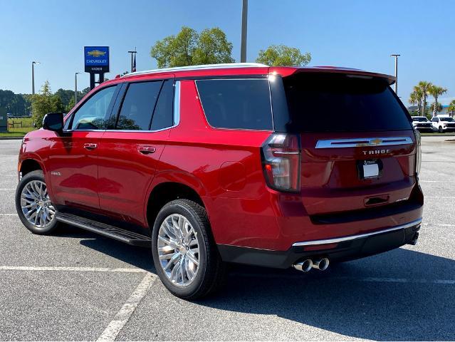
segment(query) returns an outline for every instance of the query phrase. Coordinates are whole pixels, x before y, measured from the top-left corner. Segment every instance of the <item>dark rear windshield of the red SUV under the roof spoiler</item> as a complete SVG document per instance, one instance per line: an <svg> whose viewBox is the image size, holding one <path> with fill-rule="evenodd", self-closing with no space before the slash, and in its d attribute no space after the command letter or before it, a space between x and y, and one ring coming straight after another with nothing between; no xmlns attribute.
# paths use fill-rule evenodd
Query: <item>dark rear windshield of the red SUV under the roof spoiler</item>
<svg viewBox="0 0 455 342"><path fill-rule="evenodd" d="M300 73L283 79L291 130L362 132L409 130L402 105L380 79Z"/></svg>

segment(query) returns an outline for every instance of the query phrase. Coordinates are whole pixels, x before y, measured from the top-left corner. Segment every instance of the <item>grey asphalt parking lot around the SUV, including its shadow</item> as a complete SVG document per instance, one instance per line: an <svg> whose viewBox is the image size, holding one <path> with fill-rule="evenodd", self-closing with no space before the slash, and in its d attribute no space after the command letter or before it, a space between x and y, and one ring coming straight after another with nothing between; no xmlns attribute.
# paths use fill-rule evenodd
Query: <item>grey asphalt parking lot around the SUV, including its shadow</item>
<svg viewBox="0 0 455 342"><path fill-rule="evenodd" d="M454 138L454 137L451 137ZM422 138L417 246L328 271L236 266L218 296L169 294L150 250L14 208L21 140L0 140L0 340L455 340L455 141Z"/></svg>

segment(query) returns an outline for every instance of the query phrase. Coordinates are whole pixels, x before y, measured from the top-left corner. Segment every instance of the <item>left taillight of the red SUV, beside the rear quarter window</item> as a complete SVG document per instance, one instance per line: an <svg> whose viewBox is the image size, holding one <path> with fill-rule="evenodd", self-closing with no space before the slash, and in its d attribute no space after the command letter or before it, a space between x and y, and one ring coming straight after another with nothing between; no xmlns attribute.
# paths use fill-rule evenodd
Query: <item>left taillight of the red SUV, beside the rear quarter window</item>
<svg viewBox="0 0 455 342"><path fill-rule="evenodd" d="M298 135L272 134L262 145L262 165L269 187L279 191L300 191Z"/></svg>

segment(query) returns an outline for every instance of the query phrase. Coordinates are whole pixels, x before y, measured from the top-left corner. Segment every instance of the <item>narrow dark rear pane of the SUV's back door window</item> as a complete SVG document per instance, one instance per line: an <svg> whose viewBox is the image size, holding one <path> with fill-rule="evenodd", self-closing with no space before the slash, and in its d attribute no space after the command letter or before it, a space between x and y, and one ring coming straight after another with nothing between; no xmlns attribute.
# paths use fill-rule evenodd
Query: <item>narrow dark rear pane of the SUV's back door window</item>
<svg viewBox="0 0 455 342"><path fill-rule="evenodd" d="M155 112L153 113L151 130L162 130L171 127L174 123L172 106L174 105L174 85L172 80L164 81Z"/></svg>

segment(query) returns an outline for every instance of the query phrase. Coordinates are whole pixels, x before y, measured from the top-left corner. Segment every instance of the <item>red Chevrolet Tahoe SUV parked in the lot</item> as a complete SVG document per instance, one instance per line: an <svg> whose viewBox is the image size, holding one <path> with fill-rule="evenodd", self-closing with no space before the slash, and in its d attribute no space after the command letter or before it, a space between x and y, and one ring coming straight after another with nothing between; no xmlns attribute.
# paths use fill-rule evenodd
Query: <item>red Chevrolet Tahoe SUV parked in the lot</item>
<svg viewBox="0 0 455 342"><path fill-rule="evenodd" d="M226 262L324 270L415 244L420 141L394 81L253 63L117 77L23 139L17 212L36 234L151 246L186 299Z"/></svg>

